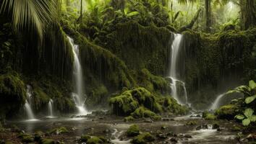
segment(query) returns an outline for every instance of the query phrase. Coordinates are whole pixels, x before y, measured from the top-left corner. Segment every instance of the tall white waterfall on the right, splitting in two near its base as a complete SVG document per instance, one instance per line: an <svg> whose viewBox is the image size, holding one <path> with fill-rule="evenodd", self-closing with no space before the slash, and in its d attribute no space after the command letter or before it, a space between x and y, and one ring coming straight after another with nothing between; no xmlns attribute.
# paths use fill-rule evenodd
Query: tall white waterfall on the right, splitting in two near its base
<svg viewBox="0 0 256 144"><path fill-rule="evenodd" d="M187 89L185 86L185 83L183 81L179 81L177 78L177 71L176 71L176 64L179 57L179 49L180 49L180 43L182 42L182 35L180 34L174 34L174 42L171 45L171 70L168 74L168 77L171 78L171 91L172 96L174 96L174 99L176 99L179 104L187 104ZM182 102L180 99L180 96L178 94L179 91L177 91L178 84L183 87L184 90L184 98L185 102Z"/></svg>

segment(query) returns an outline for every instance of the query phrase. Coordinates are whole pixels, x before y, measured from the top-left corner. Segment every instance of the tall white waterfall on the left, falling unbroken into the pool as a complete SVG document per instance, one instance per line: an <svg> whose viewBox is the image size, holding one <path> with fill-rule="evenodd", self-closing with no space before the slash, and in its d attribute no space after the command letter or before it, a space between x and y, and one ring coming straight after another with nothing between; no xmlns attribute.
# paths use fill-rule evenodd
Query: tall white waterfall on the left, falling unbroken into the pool
<svg viewBox="0 0 256 144"><path fill-rule="evenodd" d="M77 110L80 115L88 114L88 111L85 109L85 98L84 98L84 84L82 78L82 66L79 59L79 47L74 45L74 40L68 37L70 44L72 45L72 51L74 53L74 68L73 68L73 78L75 83L75 89L72 93L74 99L74 104L77 107Z"/></svg>

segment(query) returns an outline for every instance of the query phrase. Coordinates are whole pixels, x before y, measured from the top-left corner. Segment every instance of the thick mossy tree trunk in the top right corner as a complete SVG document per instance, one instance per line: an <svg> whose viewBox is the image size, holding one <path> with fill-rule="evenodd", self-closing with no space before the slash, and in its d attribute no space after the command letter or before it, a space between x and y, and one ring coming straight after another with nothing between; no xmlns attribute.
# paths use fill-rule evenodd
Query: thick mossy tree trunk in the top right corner
<svg viewBox="0 0 256 144"><path fill-rule="evenodd" d="M241 29L247 30L249 27L256 25L256 1L239 0L241 6Z"/></svg>

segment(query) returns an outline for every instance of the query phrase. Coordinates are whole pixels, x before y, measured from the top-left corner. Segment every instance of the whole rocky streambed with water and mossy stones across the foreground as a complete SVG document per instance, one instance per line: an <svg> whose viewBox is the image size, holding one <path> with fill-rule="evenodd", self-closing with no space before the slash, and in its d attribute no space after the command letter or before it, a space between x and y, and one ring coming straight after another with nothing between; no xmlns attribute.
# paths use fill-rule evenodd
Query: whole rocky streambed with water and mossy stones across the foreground
<svg viewBox="0 0 256 144"><path fill-rule="evenodd" d="M127 130L136 125L136 135ZM0 132L0 143L247 143L239 135L238 123L204 120L197 114L165 117L161 121L96 116L37 121L8 121ZM131 131L131 130L130 130ZM134 130L132 130L133 132ZM82 136L82 137L81 137Z"/></svg>

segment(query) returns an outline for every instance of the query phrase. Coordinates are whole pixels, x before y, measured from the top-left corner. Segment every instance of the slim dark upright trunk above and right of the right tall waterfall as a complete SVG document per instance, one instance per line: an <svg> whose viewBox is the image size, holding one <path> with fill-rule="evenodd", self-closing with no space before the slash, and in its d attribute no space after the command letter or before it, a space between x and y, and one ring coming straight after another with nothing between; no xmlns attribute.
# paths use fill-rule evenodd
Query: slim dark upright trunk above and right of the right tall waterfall
<svg viewBox="0 0 256 144"><path fill-rule="evenodd" d="M210 32L210 27L212 25L212 9L211 9L211 0L205 0L205 30Z"/></svg>

